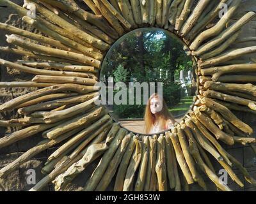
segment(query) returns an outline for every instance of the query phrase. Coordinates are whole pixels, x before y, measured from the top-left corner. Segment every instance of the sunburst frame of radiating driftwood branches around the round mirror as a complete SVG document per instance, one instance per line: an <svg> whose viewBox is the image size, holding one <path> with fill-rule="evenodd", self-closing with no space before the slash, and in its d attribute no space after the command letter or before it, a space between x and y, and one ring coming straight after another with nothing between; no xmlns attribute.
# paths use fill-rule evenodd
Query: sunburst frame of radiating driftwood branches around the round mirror
<svg viewBox="0 0 256 204"><path fill-rule="evenodd" d="M85 11L73 0L29 0L24 8L8 0L1 5L15 10L22 20L42 33L23 31L7 24L0 28L11 33L3 52L25 55L31 61L0 64L36 76L31 82L1 82L1 87L40 87L2 105L0 111L17 110L23 117L0 121L1 126L21 126L21 130L0 138L0 148L42 133L42 142L0 170L0 178L19 168L39 152L65 141L48 157L40 180L31 191L40 191L53 182L65 186L101 157L85 191L104 191L115 179L115 191L167 191L186 189L198 183L207 190L202 173L221 191L231 189L219 182L211 158L241 187L232 166L237 166L250 184L256 181L223 143L250 144L255 150L253 130L231 110L255 113L255 61L241 59L256 52L256 46L230 49L244 24L255 17L246 13L226 27L241 0L83 0ZM36 6L36 18L27 15L29 3ZM220 19L221 5L227 13ZM195 104L175 128L161 135L134 135L120 128L102 106L97 82L104 54L120 36L138 27L167 29L188 45L196 59L200 85ZM33 41L28 41L28 39ZM255 41L255 36L241 41ZM220 142L221 141L221 142ZM219 143L220 142L220 143ZM116 174L115 174L116 173ZM115 178L113 176L116 175ZM184 179L182 179L184 178ZM184 185L181 180L184 180ZM182 187L184 186L184 187Z"/></svg>

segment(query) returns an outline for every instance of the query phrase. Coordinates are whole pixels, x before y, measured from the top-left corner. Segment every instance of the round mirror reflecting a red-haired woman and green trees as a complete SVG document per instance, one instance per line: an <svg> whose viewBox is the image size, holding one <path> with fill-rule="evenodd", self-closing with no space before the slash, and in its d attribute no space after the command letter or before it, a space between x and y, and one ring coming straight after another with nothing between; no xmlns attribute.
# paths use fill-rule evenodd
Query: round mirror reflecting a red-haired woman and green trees
<svg viewBox="0 0 256 204"><path fill-rule="evenodd" d="M157 28L136 29L111 47L100 71L101 103L123 128L152 135L183 119L197 77L186 45Z"/></svg>

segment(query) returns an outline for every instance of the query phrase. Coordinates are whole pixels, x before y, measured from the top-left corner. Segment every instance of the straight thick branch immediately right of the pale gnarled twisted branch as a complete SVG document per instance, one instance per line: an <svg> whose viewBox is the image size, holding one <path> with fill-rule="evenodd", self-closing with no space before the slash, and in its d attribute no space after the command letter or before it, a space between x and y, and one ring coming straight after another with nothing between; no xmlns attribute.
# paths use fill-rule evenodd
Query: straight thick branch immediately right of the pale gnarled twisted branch
<svg viewBox="0 0 256 204"><path fill-rule="evenodd" d="M113 142L111 142L109 145L109 149L105 152L97 168L93 171L92 177L88 180L88 182L86 182L84 191L93 191L97 187L97 184L99 184L100 179L102 179L102 176L106 171L109 162L113 158L125 135L127 135L127 131L125 129L120 129L118 131L117 135L113 139Z"/></svg>

